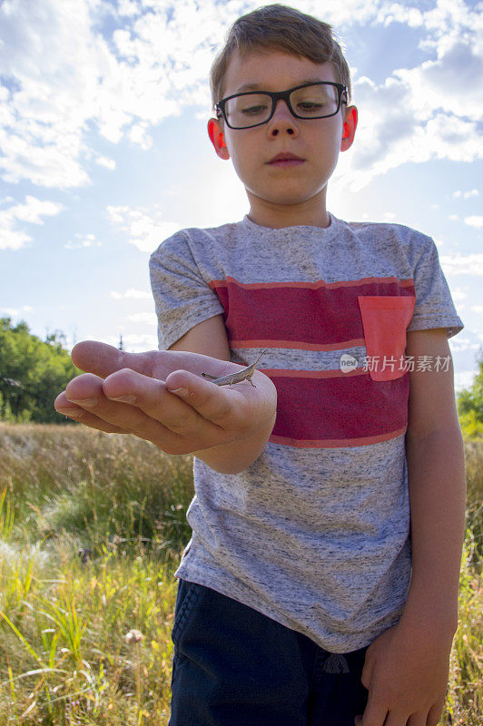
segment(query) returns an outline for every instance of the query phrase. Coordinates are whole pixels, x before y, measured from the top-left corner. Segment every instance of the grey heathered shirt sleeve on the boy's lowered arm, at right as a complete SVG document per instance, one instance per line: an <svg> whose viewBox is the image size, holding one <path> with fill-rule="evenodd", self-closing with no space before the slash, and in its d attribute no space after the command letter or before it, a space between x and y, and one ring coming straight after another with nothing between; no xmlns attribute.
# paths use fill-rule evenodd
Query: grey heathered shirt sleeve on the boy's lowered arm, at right
<svg viewBox="0 0 483 726"><path fill-rule="evenodd" d="M422 247L422 251L421 251ZM408 330L446 328L448 338L464 328L449 292L448 282L439 264L438 248L424 236L419 260L413 273L416 302Z"/></svg>

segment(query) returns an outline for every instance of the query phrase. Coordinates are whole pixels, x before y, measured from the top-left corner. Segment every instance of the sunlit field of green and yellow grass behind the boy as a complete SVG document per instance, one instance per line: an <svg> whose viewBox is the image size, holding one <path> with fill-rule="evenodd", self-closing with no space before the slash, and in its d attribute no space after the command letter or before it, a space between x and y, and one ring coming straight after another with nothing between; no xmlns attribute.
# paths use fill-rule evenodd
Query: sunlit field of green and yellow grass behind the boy
<svg viewBox="0 0 483 726"><path fill-rule="evenodd" d="M483 439L467 441L459 626L441 726L483 722ZM0 726L167 726L191 456L0 424Z"/></svg>

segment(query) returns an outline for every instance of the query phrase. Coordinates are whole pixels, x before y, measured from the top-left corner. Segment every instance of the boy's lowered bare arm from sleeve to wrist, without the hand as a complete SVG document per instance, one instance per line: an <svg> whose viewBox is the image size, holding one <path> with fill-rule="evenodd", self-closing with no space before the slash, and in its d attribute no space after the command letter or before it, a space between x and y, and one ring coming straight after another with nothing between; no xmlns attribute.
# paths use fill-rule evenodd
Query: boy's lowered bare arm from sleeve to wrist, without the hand
<svg viewBox="0 0 483 726"><path fill-rule="evenodd" d="M403 617L458 626L458 584L465 533L463 437L445 329L408 333L409 356L449 356L447 372L409 374L406 452L411 512L412 578ZM431 367L433 368L433 367Z"/></svg>

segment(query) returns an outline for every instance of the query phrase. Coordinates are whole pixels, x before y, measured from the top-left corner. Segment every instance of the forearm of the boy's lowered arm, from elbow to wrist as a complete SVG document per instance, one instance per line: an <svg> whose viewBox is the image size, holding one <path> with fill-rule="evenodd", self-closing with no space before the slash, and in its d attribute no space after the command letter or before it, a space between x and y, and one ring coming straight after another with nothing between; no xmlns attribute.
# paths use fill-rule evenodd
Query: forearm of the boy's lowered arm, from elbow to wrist
<svg viewBox="0 0 483 726"><path fill-rule="evenodd" d="M459 428L407 438L412 578L403 619L458 625L466 476Z"/></svg>

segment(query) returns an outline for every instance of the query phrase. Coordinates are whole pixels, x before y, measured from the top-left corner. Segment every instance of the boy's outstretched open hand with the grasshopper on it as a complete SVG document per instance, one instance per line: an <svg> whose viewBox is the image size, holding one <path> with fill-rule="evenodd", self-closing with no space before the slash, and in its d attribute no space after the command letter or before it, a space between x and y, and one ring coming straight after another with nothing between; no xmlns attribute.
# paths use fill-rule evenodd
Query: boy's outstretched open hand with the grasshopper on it
<svg viewBox="0 0 483 726"><path fill-rule="evenodd" d="M175 350L124 353L92 340L74 346L72 359L86 372L55 398L55 409L88 427L144 438L167 454L251 437L275 415L276 388L260 371L253 374L256 388L201 377L241 370L230 361Z"/></svg>

